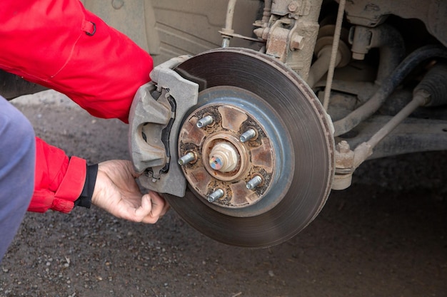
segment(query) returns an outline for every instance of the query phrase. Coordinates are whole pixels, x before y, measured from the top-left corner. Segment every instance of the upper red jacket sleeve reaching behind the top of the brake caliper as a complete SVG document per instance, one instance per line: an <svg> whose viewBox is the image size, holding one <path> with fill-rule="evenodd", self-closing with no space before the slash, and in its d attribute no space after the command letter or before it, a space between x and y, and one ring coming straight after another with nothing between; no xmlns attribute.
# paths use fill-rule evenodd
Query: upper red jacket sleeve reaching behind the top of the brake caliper
<svg viewBox="0 0 447 297"><path fill-rule="evenodd" d="M149 81L149 53L79 0L2 1L0 24L0 68L127 123L136 90Z"/></svg>

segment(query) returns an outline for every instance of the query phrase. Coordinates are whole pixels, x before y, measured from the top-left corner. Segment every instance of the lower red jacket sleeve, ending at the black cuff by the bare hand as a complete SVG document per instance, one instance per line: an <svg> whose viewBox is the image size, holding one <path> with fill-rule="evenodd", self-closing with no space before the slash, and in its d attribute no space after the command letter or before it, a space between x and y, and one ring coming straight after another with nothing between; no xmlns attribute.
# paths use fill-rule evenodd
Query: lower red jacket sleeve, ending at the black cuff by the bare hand
<svg viewBox="0 0 447 297"><path fill-rule="evenodd" d="M67 157L57 147L36 137L34 194L28 210L70 212L84 188L86 160Z"/></svg>

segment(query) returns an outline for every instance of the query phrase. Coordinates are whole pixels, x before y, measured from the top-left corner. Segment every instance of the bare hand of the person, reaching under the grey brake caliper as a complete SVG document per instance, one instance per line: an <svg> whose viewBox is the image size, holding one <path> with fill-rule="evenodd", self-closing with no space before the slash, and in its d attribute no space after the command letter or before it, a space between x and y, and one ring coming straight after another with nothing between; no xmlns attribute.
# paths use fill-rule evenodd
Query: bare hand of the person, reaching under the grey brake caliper
<svg viewBox="0 0 447 297"><path fill-rule="evenodd" d="M98 165L91 203L115 217L154 224L169 205L156 192L141 194L131 162L111 160Z"/></svg>

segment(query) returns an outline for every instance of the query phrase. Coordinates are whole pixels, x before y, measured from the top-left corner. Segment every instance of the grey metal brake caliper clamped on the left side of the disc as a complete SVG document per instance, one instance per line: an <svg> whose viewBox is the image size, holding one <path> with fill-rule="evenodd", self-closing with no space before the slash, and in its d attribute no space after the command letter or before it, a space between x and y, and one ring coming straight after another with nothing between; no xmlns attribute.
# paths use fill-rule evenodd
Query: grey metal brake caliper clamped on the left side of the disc
<svg viewBox="0 0 447 297"><path fill-rule="evenodd" d="M186 179L177 164L181 120L197 104L199 85L172 69L189 59L172 58L154 68L150 83L137 91L129 114L129 150L141 185L183 197Z"/></svg>

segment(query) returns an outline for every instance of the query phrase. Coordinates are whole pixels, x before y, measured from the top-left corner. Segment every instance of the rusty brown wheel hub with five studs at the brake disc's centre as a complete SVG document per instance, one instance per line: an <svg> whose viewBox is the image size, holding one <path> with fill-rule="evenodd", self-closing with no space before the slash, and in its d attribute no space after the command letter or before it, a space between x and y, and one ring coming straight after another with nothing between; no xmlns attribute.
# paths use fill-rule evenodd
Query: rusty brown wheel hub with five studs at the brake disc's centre
<svg viewBox="0 0 447 297"><path fill-rule="evenodd" d="M245 95L238 95L239 99L246 97L237 88L231 92ZM222 100L226 93L228 88L209 95ZM189 152L196 158L182 167L186 179L201 198L219 207L256 204L268 192L275 174L275 151L266 129L256 115L236 105L209 103L194 110L179 133L179 155ZM222 194L210 199L219 189Z"/></svg>

